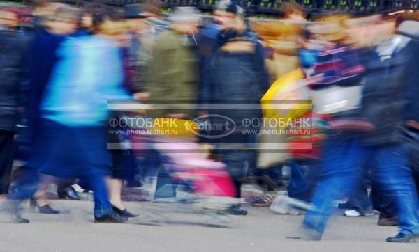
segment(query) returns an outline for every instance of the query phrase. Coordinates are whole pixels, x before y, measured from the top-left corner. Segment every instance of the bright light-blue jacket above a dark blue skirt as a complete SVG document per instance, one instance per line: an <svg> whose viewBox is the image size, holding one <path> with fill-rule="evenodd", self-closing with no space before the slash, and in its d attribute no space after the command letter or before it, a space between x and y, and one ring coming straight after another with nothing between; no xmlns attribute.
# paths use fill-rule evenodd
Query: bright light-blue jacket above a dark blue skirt
<svg viewBox="0 0 419 252"><path fill-rule="evenodd" d="M41 102L41 116L70 127L104 125L107 100L129 100L118 45L101 36L64 40Z"/></svg>

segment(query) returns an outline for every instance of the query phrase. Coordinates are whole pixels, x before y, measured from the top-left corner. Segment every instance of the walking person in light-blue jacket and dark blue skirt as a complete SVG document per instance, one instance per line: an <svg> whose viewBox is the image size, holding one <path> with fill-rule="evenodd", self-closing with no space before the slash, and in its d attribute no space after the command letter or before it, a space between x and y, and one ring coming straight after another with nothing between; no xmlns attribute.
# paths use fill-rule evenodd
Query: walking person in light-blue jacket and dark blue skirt
<svg viewBox="0 0 419 252"><path fill-rule="evenodd" d="M63 11L72 18L80 17L75 8ZM129 98L122 89L119 45L103 35L109 22L100 13L94 19L94 35L68 37L59 45L59 61L45 86L40 131L27 166L43 174L34 194L38 207L48 184L82 178L94 190L95 221L124 222L127 219L112 210L105 185L110 166L106 102ZM28 221L20 218L20 222Z"/></svg>

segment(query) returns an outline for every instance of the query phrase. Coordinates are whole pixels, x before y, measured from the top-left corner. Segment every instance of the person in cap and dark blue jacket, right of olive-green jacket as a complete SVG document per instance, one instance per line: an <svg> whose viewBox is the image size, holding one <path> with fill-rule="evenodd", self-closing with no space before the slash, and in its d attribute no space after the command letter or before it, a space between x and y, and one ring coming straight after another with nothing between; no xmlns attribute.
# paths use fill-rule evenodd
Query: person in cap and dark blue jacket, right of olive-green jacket
<svg viewBox="0 0 419 252"><path fill-rule="evenodd" d="M221 1L214 15L216 22L221 26L221 33L216 38L214 52L207 59L203 71L200 102L210 105L202 106L201 114L222 115L233 120L236 125L241 125L244 118L260 118L260 109L247 109L240 105L237 105L236 109L221 109L217 108L217 104L258 105L260 97L268 87L263 47L256 34L247 31L243 19L244 10L234 1ZM227 212L245 215L247 211L240 208L240 180L246 176L246 166L248 169L254 169L256 166L256 153L254 150L248 150L254 148L256 135L243 134L241 130L242 127L237 127L232 134L215 140L221 162L227 165L237 193L238 202Z"/></svg>

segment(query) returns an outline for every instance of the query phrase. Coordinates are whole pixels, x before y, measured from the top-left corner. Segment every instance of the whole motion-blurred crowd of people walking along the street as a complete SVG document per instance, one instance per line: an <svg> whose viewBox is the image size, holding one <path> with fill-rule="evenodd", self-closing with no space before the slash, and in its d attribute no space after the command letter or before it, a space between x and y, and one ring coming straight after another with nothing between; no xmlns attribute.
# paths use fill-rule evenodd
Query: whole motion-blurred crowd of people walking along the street
<svg viewBox="0 0 419 252"><path fill-rule="evenodd" d="M193 164L222 163L231 180L222 195L233 198L207 210L246 215L242 189L267 183L287 196L258 196L253 205L307 211L294 238L321 239L335 202L346 200L338 207L348 217L379 211L378 225L400 226L388 242L419 240L419 13L308 20L284 3L282 19L246 19L232 0L220 1L210 16L191 7L161 15L153 1L32 7L0 8L0 194L8 194L13 222L29 223L21 216L24 200L59 214L50 206L51 184L62 198L80 199L73 184L93 191L96 222L138 216L124 206L122 189L146 187L149 178L157 178L152 200L186 203L191 199L177 196L181 183L166 164L191 166L186 159L199 158L163 153L169 143L199 143L186 152L205 143L210 155L200 158L216 162ZM110 135L112 100L163 104L147 116L212 118L224 128L171 141ZM309 134L253 124L278 115L309 118ZM159 141L169 145L153 145ZM121 148L126 142L152 147ZM296 147L307 144L305 152Z"/></svg>

